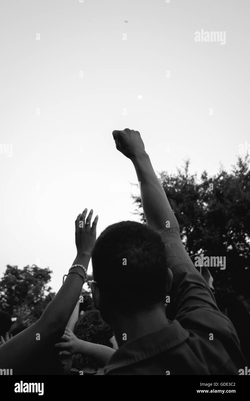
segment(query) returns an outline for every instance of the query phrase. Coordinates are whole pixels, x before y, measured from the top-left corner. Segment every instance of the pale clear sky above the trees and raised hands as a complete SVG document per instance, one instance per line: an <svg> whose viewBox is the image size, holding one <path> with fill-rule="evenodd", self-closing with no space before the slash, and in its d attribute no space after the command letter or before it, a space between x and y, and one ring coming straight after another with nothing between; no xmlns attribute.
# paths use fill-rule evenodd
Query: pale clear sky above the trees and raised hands
<svg viewBox="0 0 250 401"><path fill-rule="evenodd" d="M198 176L230 170L250 143L249 12L245 0L2 0L0 277L37 264L58 291L85 207L98 235L139 221L113 130L138 130L156 172L187 158Z"/></svg>

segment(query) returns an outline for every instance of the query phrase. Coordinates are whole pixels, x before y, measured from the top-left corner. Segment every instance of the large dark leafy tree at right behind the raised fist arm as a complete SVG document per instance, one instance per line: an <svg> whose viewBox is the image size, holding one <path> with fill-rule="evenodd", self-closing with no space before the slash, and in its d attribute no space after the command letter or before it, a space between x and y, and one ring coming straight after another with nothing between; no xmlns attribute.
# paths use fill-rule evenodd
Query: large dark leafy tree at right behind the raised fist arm
<svg viewBox="0 0 250 401"><path fill-rule="evenodd" d="M250 302L250 170L248 156L232 172L221 166L215 176L206 171L198 180L189 174L189 160L177 174L161 172L169 203L179 222L181 239L190 256L226 256L226 269L210 267L216 287L227 287ZM133 196L146 223L141 199Z"/></svg>

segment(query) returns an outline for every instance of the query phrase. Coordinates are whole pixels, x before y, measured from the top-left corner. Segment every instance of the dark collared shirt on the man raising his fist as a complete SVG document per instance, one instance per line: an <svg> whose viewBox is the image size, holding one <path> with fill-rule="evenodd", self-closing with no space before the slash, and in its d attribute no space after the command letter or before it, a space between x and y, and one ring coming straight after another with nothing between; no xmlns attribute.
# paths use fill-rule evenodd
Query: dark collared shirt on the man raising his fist
<svg viewBox="0 0 250 401"><path fill-rule="evenodd" d="M175 320L122 345L104 375L238 375L246 366L234 326L203 277L188 263L175 269Z"/></svg>

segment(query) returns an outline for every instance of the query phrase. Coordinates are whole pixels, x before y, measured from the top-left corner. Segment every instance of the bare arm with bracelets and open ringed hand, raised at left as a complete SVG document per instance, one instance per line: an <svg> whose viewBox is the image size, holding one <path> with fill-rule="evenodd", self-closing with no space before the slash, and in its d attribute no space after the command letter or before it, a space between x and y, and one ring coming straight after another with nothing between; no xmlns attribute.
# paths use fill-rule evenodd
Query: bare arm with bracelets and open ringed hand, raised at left
<svg viewBox="0 0 250 401"><path fill-rule="evenodd" d="M87 269L92 247L96 240L96 223L93 221L92 228L87 225L85 229L85 216L87 209L77 217L75 222L77 257L74 264L82 264ZM91 219L91 215L87 219ZM84 220L83 228L79 228L79 219ZM87 222L87 220L86 220ZM89 231L90 230L90 231ZM80 267L74 267L71 271L83 275ZM63 286L55 298L47 306L41 318L26 330L14 336L11 340L0 347L0 368L13 369L13 374L22 374L25 367L32 365L52 346L60 337L75 308L75 304L81 294L83 278L79 274L69 274Z"/></svg>

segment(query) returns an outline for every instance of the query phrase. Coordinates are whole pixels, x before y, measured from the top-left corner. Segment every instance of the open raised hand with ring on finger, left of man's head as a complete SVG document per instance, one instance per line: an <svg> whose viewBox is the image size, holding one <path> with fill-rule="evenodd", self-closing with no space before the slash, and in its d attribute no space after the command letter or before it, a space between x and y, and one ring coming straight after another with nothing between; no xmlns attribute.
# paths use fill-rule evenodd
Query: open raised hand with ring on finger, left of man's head
<svg viewBox="0 0 250 401"><path fill-rule="evenodd" d="M98 216L96 216L93 220L91 227L90 223L93 215L93 209L91 209L85 221L86 214L87 209L84 209L83 213L80 213L75 221L75 245L77 249L77 255L91 253L96 242L96 225L98 222Z"/></svg>

